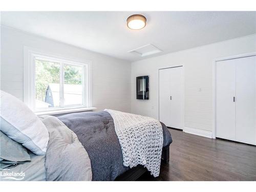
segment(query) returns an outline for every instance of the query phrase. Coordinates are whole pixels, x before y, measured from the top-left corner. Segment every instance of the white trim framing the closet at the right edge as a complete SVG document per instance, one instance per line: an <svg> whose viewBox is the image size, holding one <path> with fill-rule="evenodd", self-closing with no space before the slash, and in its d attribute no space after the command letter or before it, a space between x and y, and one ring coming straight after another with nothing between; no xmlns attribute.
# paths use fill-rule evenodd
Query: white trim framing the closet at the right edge
<svg viewBox="0 0 256 192"><path fill-rule="evenodd" d="M212 138L216 139L216 63L218 61L256 56L256 52L216 58L212 61Z"/></svg>

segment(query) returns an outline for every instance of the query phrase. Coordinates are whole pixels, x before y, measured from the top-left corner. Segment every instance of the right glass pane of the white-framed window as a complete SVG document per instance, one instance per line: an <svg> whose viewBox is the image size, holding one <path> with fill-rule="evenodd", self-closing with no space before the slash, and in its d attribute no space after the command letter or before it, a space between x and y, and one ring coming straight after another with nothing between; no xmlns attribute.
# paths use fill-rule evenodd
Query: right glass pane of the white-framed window
<svg viewBox="0 0 256 192"><path fill-rule="evenodd" d="M64 73L64 105L82 105L82 67L63 66Z"/></svg>

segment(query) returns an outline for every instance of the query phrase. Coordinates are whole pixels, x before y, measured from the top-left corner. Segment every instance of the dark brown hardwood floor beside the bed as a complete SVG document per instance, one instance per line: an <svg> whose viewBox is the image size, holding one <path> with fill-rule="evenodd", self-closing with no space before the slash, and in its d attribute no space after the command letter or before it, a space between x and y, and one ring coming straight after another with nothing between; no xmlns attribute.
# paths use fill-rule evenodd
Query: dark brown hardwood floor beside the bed
<svg viewBox="0 0 256 192"><path fill-rule="evenodd" d="M169 129L170 164L140 181L256 181L256 146Z"/></svg>

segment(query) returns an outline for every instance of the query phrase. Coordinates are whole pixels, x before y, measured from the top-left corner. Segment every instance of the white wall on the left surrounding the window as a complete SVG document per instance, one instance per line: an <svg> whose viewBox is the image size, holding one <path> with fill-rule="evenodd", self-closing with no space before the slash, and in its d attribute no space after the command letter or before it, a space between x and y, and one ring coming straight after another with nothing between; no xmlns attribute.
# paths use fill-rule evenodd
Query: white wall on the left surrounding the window
<svg viewBox="0 0 256 192"><path fill-rule="evenodd" d="M131 111L130 62L4 26L1 27L1 90L23 100L24 46L48 50L60 57L91 60L93 106L98 110Z"/></svg>

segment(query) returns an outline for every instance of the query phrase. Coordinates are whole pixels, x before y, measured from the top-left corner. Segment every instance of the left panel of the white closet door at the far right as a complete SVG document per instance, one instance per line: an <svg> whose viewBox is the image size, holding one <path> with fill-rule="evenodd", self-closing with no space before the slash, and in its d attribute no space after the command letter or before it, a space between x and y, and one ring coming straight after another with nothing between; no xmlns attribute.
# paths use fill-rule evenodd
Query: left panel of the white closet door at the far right
<svg viewBox="0 0 256 192"><path fill-rule="evenodd" d="M236 66L232 60L216 65L216 137L236 139Z"/></svg>

